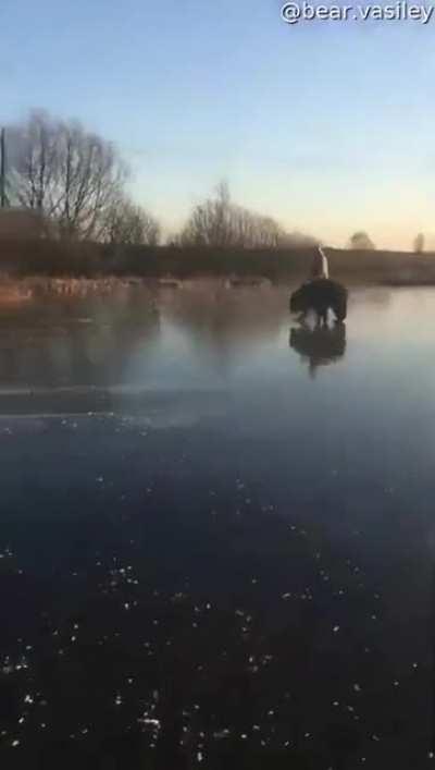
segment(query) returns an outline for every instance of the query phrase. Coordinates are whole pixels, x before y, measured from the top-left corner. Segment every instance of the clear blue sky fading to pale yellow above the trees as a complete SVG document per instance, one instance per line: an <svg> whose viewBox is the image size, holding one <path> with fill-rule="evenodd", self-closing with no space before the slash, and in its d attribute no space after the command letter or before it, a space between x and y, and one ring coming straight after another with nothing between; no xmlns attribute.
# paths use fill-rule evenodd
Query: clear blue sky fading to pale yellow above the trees
<svg viewBox="0 0 435 770"><path fill-rule="evenodd" d="M331 245L435 235L435 14L288 26L281 5L3 0L0 121L45 108L114 140L169 232L225 179Z"/></svg>

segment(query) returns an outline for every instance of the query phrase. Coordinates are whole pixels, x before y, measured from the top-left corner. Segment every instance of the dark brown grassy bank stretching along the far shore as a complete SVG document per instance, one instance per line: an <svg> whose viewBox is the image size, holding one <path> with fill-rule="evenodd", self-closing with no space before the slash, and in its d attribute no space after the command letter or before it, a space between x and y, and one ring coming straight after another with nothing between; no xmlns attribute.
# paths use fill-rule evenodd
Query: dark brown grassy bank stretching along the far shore
<svg viewBox="0 0 435 770"><path fill-rule="evenodd" d="M0 271L15 277L196 276L308 277L312 248L288 250L203 249L170 246L104 246L95 243L0 242ZM435 254L326 249L331 276L349 283L435 284Z"/></svg>

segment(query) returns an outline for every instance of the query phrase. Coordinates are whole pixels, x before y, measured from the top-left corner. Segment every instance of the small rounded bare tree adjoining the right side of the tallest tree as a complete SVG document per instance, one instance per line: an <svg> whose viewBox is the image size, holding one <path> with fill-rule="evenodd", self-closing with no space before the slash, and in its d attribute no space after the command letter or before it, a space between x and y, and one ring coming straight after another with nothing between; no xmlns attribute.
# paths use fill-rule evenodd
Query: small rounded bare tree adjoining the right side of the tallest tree
<svg viewBox="0 0 435 770"><path fill-rule="evenodd" d="M104 213L101 240L105 243L157 246L160 234L159 222L128 198L114 200Z"/></svg>

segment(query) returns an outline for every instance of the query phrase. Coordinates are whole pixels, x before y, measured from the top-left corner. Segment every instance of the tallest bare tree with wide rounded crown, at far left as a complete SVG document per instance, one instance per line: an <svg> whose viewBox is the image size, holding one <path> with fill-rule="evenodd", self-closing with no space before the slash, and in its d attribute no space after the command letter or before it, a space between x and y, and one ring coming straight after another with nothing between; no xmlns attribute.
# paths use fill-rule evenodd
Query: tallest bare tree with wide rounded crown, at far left
<svg viewBox="0 0 435 770"><path fill-rule="evenodd" d="M55 219L62 235L99 237L126 169L113 146L76 122L44 112L11 130L13 199Z"/></svg>

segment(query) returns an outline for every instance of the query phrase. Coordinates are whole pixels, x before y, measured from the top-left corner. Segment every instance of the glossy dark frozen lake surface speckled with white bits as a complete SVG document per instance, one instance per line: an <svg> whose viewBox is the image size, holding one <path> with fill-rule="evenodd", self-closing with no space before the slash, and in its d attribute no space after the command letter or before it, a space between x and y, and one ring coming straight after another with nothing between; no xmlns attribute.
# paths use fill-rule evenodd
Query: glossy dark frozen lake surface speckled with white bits
<svg viewBox="0 0 435 770"><path fill-rule="evenodd" d="M435 291L0 308L1 766L435 767Z"/></svg>

